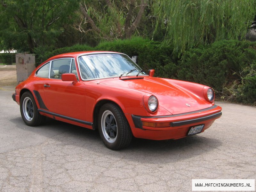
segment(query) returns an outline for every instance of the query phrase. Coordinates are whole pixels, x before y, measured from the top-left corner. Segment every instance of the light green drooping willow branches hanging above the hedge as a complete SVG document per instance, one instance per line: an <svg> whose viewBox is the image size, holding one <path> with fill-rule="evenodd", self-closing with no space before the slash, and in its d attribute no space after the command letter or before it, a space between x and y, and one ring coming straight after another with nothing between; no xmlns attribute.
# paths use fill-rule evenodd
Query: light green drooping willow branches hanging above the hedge
<svg viewBox="0 0 256 192"><path fill-rule="evenodd" d="M243 39L256 14L255 0L156 0L165 42L184 52L199 44Z"/></svg>

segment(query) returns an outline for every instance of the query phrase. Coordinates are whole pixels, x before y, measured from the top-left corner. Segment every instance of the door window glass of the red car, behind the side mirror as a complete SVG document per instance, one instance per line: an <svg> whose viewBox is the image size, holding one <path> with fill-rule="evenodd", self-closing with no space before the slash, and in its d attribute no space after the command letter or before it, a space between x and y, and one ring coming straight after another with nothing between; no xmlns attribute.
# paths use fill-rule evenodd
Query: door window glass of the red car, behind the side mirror
<svg viewBox="0 0 256 192"><path fill-rule="evenodd" d="M71 58L52 61L51 78L61 79L63 73L70 73Z"/></svg>

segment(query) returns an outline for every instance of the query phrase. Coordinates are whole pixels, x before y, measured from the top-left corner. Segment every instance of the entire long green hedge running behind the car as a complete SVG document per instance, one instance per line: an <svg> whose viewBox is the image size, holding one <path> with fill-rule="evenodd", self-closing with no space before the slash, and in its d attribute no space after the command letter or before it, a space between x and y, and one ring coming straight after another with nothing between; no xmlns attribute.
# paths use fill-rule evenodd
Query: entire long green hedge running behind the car
<svg viewBox="0 0 256 192"><path fill-rule="evenodd" d="M172 45L140 37L101 43L96 47L75 45L52 52L37 50L44 61L54 55L76 51L114 51L132 57L145 71L154 68L159 77L175 78L211 86L221 98L256 104L256 43L249 41L219 41L190 49L179 58ZM41 51L41 54L40 54ZM44 54L42 54L44 53ZM39 63L37 63L39 64Z"/></svg>

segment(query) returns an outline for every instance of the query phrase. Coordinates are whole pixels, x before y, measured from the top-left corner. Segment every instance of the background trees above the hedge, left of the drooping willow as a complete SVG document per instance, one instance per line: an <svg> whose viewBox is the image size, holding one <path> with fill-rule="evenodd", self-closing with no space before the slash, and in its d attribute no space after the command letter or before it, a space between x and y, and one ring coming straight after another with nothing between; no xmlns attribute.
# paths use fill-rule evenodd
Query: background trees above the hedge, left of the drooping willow
<svg viewBox="0 0 256 192"><path fill-rule="evenodd" d="M0 50L40 52L104 40L152 37L152 0L1 0ZM85 15L83 14L83 11ZM162 30L155 39L163 39Z"/></svg>

